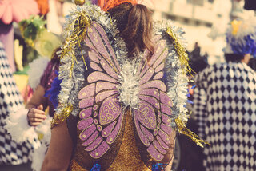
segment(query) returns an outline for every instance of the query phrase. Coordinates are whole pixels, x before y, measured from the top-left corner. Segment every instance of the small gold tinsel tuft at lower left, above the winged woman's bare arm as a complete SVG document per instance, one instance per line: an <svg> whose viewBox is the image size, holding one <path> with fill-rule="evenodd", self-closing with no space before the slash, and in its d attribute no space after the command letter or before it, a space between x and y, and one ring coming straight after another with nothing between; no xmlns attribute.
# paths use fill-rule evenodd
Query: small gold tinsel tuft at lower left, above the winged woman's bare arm
<svg viewBox="0 0 256 171"><path fill-rule="evenodd" d="M70 116L70 113L73 110L73 105L67 105L62 112L54 115L53 121L51 121L50 127L53 128L55 125L58 125L66 120Z"/></svg>

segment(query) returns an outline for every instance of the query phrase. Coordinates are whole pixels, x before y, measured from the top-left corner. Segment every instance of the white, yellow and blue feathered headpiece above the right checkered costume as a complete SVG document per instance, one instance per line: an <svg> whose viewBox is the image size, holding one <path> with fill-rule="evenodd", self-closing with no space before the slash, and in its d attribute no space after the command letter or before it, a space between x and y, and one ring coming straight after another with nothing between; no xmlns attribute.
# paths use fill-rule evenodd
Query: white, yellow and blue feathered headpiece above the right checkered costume
<svg viewBox="0 0 256 171"><path fill-rule="evenodd" d="M256 18L234 20L226 31L226 54L256 56Z"/></svg>

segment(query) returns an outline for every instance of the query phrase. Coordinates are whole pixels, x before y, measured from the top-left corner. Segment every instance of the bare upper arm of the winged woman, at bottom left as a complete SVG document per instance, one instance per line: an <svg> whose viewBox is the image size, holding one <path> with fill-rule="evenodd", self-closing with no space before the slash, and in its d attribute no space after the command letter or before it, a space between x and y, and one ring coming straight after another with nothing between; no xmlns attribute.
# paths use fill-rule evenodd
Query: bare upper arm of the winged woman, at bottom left
<svg viewBox="0 0 256 171"><path fill-rule="evenodd" d="M64 121L51 131L50 146L41 171L66 171L70 165L72 149L73 142Z"/></svg>

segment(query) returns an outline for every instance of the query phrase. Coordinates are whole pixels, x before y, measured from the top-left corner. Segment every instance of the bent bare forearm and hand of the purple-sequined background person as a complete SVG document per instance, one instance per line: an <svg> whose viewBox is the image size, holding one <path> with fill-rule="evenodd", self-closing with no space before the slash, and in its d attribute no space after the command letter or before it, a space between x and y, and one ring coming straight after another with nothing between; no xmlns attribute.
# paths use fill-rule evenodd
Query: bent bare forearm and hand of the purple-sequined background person
<svg viewBox="0 0 256 171"><path fill-rule="evenodd" d="M46 103L46 97L44 97L45 89L42 85L38 85L38 88L34 91L30 101L26 104L26 109L30 109L28 113L28 121L31 126L37 126L46 119L46 113L42 111L40 105Z"/></svg>

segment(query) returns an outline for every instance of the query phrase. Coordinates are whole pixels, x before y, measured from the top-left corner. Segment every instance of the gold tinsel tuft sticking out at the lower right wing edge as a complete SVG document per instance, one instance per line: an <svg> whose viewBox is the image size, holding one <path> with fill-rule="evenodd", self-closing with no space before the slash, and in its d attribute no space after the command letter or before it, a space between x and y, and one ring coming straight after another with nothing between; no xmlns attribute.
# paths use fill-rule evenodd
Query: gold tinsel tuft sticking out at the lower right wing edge
<svg viewBox="0 0 256 171"><path fill-rule="evenodd" d="M184 121L182 121L180 118L176 118L174 121L178 127L178 133L182 133L182 134L190 137L192 141L194 141L197 145L199 145L201 147L203 147L202 143L210 145L208 142L203 141L200 137L198 137L197 134L190 131L190 129L187 129L186 123Z"/></svg>

